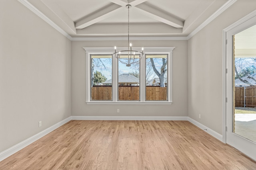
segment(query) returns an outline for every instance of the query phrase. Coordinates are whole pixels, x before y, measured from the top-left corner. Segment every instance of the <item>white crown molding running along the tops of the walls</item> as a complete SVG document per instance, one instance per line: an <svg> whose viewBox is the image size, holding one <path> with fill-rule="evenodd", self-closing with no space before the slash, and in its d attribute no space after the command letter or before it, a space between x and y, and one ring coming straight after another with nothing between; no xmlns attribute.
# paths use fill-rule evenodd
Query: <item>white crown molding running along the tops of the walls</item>
<svg viewBox="0 0 256 170"><path fill-rule="evenodd" d="M62 33L65 37L70 39L71 41L122 41L127 40L127 37L71 37L66 31L60 28L56 23L50 20L46 15L44 15L40 10L38 10L35 6L33 6L28 0L18 0L21 4L26 6L29 10L34 12L37 16L42 18L42 20L46 21L50 24L54 29ZM188 40L193 37L198 31L204 28L208 23L218 17L222 12L228 9L232 4L234 4L237 0L228 0L222 7L220 7L214 14L212 14L207 20L205 20L201 25L199 25L194 31L192 31L186 37L130 37L130 40Z"/></svg>

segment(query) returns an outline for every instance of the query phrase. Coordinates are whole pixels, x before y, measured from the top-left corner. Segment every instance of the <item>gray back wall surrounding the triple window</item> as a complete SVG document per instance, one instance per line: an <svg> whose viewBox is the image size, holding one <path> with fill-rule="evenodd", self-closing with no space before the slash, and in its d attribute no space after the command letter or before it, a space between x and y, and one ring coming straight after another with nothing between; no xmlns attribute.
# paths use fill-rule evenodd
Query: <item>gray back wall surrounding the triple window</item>
<svg viewBox="0 0 256 170"><path fill-rule="evenodd" d="M187 41L132 41L135 47L176 47L172 54L172 105L88 105L85 57L82 47L126 47L127 41L72 41L73 116L187 116ZM113 48L114 49L114 48ZM120 109L120 113L116 113Z"/></svg>

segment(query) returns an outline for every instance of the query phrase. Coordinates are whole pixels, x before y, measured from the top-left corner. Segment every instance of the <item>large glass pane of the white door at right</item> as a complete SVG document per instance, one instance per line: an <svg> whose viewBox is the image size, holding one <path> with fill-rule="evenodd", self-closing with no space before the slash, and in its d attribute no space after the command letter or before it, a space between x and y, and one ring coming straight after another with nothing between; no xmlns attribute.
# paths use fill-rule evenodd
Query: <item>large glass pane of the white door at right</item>
<svg viewBox="0 0 256 170"><path fill-rule="evenodd" d="M256 25L234 39L233 133L256 143Z"/></svg>

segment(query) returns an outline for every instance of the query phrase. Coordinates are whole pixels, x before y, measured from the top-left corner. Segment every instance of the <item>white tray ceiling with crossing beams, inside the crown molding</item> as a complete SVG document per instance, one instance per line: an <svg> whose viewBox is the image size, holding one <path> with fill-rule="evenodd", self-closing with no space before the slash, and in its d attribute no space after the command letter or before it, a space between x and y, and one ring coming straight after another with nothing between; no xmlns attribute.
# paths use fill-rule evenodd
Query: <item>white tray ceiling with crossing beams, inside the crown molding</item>
<svg viewBox="0 0 256 170"><path fill-rule="evenodd" d="M71 37L186 37L235 0L20 0Z"/></svg>

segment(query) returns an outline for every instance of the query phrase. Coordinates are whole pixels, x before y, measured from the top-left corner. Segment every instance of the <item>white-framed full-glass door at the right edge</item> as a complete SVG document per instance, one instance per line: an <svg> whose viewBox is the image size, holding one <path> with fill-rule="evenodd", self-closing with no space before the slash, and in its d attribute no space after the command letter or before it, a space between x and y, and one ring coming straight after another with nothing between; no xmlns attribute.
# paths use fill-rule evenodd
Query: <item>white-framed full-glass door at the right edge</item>
<svg viewBox="0 0 256 170"><path fill-rule="evenodd" d="M227 32L226 142L256 160L256 25Z"/></svg>

